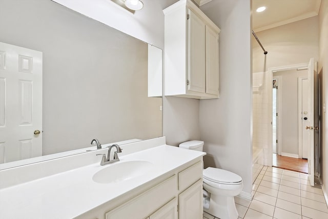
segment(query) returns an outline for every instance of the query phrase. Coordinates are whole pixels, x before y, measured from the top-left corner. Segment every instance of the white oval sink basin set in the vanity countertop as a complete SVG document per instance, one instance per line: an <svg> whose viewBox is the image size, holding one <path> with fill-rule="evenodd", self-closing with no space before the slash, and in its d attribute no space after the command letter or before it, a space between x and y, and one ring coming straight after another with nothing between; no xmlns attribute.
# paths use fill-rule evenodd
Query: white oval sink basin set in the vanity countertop
<svg viewBox="0 0 328 219"><path fill-rule="evenodd" d="M92 180L96 183L117 183L147 174L151 169L153 164L148 161L118 162L96 172Z"/></svg>

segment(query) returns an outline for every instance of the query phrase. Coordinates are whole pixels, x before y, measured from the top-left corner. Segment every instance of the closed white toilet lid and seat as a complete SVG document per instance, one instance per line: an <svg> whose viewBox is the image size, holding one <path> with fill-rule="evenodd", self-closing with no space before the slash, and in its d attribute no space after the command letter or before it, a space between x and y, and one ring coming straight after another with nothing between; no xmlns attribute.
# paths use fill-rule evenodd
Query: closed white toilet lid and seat
<svg viewBox="0 0 328 219"><path fill-rule="evenodd" d="M213 183L238 185L242 184L242 178L230 171L208 167L203 170L203 178Z"/></svg>

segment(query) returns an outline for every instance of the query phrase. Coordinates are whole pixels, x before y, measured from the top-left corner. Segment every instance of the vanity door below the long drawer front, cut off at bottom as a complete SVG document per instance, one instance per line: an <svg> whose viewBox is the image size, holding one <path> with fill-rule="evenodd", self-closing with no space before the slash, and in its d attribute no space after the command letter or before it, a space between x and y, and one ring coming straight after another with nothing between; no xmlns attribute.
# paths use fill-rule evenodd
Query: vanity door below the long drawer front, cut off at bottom
<svg viewBox="0 0 328 219"><path fill-rule="evenodd" d="M165 206L158 209L155 213L150 215L149 219L178 219L178 201L173 198Z"/></svg>

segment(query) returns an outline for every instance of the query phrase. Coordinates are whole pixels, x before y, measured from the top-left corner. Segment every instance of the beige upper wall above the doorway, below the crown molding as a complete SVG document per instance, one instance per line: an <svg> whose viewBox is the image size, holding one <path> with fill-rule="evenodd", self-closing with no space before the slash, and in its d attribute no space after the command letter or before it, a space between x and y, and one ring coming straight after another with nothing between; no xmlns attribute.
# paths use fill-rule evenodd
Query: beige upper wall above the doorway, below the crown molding
<svg viewBox="0 0 328 219"><path fill-rule="evenodd" d="M309 63L310 58L318 61L318 33L318 16L257 32L256 35L268 54L263 55L263 50L253 37L253 72Z"/></svg>

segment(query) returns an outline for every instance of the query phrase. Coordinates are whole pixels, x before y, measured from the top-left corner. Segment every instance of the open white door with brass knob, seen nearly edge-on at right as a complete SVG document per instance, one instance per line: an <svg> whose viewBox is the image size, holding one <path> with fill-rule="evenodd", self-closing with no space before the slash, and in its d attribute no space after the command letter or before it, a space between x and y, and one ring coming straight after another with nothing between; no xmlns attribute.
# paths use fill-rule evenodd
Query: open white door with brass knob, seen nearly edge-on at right
<svg viewBox="0 0 328 219"><path fill-rule="evenodd" d="M310 59L308 66L308 166L309 166L309 180L311 186L314 186L314 58Z"/></svg>

